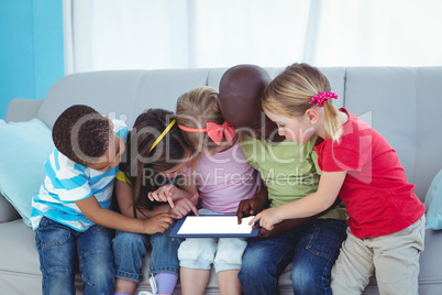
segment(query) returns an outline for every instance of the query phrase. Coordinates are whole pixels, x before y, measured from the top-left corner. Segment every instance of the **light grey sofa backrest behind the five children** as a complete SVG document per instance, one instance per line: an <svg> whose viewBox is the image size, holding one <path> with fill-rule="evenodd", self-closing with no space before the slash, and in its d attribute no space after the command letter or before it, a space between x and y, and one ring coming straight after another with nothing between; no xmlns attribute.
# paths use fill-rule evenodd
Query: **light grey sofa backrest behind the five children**
<svg viewBox="0 0 442 295"><path fill-rule="evenodd" d="M275 77L284 68L267 68ZM36 117L48 127L69 106L89 105L101 113L125 120L131 127L148 108L175 110L178 96L197 87L218 89L226 68L106 70L81 73L58 80L37 106ZM440 129L442 67L323 67L336 107L345 107L379 131L399 154L408 181L424 199L442 168ZM20 118L9 109L7 119ZM32 111L31 111L32 113Z"/></svg>

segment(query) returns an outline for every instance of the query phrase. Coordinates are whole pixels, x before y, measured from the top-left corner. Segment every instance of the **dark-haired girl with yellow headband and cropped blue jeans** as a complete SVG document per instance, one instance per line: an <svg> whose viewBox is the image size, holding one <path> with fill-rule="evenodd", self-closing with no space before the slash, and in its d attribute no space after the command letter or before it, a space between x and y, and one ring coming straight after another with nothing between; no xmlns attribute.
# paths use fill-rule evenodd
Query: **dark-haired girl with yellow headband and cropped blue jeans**
<svg viewBox="0 0 442 295"><path fill-rule="evenodd" d="M115 294L134 293L142 280L143 256L150 245L153 293L172 294L178 278L177 251L181 240L168 237L175 223L169 228L161 227L155 216L170 212L181 218L189 211L198 211L189 198L177 200L170 208L163 203L151 201L147 195L186 173L191 164L191 150L172 111L150 109L137 117L125 151L125 161L120 164L115 182L120 211L125 216L148 219L152 231L156 233L117 231L113 239Z"/></svg>

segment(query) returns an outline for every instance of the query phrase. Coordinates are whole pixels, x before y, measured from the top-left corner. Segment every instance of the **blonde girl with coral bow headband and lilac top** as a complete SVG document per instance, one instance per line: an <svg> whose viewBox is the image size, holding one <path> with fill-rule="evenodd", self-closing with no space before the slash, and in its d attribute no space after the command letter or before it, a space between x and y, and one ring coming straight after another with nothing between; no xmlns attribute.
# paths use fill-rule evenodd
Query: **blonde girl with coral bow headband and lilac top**
<svg viewBox="0 0 442 295"><path fill-rule="evenodd" d="M188 175L187 192L198 192L199 215L235 215L241 200L256 195L259 178L240 146L235 130L221 114L218 92L198 87L177 101L177 123L198 156ZM159 194L152 197L166 201ZM175 194L169 195L173 199ZM178 250L181 292L205 294L211 264L221 294L242 294L237 273L247 245L240 238L186 239Z"/></svg>

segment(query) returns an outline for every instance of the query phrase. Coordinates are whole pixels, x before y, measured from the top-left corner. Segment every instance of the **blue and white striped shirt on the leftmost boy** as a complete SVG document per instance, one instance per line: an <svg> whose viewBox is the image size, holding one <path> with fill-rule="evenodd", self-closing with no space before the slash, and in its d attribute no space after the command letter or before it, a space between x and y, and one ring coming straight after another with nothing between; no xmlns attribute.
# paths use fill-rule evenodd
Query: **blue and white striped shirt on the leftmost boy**
<svg viewBox="0 0 442 295"><path fill-rule="evenodd" d="M128 127L123 121L113 120L114 131L124 142ZM95 196L100 206L111 209L111 197L118 166L100 172L75 163L57 149L44 164L45 181L38 195L32 199L32 228L38 228L40 220L47 217L84 232L93 226L77 207L75 201Z"/></svg>

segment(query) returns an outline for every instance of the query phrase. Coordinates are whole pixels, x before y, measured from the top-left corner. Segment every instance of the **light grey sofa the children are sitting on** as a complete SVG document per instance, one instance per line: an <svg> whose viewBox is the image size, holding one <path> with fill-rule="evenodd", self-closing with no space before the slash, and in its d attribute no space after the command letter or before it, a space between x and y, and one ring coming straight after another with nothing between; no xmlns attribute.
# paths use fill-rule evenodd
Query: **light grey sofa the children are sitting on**
<svg viewBox="0 0 442 295"><path fill-rule="evenodd" d="M267 70L276 76L283 68ZM432 178L442 168L442 67L329 67L322 70L340 96L334 103L372 123L397 150L409 182L416 184L416 194L423 201ZM58 80L44 100L13 99L5 121L38 118L52 128L64 109L86 103L125 120L131 127L146 108L174 110L177 97L185 91L202 85L218 88L224 72L225 68L211 68L75 74ZM41 293L34 233L2 196L0 222L0 293ZM441 249L442 232L427 230L420 294L442 294ZM147 267L144 270L146 273ZM281 294L292 294L289 275L288 267L279 280ZM80 294L79 277L77 285ZM150 289L146 275L137 292L144 289ZM179 286L174 294L180 294ZM207 294L219 294L213 273ZM378 294L375 280L364 294Z"/></svg>

